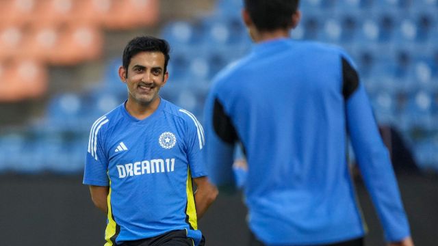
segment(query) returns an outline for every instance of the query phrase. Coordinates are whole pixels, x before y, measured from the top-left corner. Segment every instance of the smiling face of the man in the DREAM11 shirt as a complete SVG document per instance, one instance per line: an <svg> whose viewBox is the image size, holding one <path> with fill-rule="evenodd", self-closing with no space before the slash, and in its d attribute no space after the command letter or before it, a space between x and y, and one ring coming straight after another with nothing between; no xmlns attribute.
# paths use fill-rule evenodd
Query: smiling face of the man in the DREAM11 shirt
<svg viewBox="0 0 438 246"><path fill-rule="evenodd" d="M168 79L168 72L164 74L164 54L140 52L131 58L127 71L119 68L119 75L127 84L129 100L150 105L157 100L159 90Z"/></svg>

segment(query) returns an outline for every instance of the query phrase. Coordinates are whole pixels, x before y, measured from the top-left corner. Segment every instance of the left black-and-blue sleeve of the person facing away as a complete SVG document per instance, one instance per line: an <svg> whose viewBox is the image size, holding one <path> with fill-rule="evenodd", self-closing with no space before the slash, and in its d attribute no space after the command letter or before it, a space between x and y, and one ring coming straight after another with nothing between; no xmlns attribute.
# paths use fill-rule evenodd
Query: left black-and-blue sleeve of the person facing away
<svg viewBox="0 0 438 246"><path fill-rule="evenodd" d="M235 187L233 148L237 134L214 88L207 96L204 116L207 139L204 154L209 179L222 189Z"/></svg>

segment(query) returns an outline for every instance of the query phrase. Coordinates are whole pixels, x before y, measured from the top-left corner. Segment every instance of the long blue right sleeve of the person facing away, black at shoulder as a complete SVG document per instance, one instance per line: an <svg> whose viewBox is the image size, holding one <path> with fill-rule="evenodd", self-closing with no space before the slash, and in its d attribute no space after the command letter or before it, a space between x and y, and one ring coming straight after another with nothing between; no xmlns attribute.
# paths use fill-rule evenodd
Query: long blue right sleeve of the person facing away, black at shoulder
<svg viewBox="0 0 438 246"><path fill-rule="evenodd" d="M409 223L389 153L378 132L365 88L359 83L355 68L350 65L348 58L342 58L342 63L344 92L348 95L346 123L357 163L381 219L385 238L387 241L400 241L409 236Z"/></svg>

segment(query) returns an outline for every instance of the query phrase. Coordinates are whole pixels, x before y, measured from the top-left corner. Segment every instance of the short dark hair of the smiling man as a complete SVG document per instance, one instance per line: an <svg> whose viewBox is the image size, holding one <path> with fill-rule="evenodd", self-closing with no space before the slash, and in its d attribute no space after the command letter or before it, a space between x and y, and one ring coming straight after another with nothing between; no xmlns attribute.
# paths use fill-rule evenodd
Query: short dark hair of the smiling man
<svg viewBox="0 0 438 246"><path fill-rule="evenodd" d="M123 50L123 68L126 70L128 77L128 66L131 58L140 52L161 52L164 55L164 73L167 71L167 64L170 59L170 44L166 40L155 38L152 36L141 36L133 38Z"/></svg>

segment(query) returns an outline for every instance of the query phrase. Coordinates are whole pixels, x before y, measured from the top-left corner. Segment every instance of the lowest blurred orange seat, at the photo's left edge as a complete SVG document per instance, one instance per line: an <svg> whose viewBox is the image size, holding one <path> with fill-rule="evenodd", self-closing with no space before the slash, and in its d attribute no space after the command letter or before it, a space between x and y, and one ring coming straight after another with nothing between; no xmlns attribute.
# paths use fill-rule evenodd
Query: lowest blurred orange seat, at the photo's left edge
<svg viewBox="0 0 438 246"><path fill-rule="evenodd" d="M47 71L38 61L12 60L0 64L0 101L38 98L47 90Z"/></svg>

